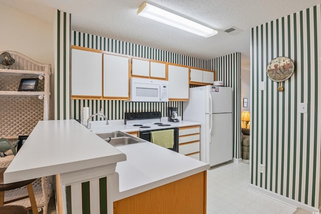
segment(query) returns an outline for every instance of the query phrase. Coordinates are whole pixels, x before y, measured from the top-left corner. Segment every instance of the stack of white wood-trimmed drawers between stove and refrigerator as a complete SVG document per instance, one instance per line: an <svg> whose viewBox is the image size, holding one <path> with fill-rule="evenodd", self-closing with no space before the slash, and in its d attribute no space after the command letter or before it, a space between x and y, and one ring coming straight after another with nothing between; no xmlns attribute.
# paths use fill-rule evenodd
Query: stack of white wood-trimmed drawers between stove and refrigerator
<svg viewBox="0 0 321 214"><path fill-rule="evenodd" d="M179 128L179 153L200 160L200 128L199 125Z"/></svg>

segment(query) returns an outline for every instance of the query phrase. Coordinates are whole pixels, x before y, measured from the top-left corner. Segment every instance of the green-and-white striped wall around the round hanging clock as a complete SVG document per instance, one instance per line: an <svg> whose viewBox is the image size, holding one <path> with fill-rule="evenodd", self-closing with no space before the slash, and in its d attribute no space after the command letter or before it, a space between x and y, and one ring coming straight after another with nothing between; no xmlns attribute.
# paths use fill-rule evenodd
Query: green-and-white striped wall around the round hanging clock
<svg viewBox="0 0 321 214"><path fill-rule="evenodd" d="M320 100L318 56L320 5L251 30L250 183L312 207L319 207ZM278 83L266 75L270 60L286 56L294 74ZM258 84L265 81L265 90ZM307 102L307 114L298 104ZM259 164L265 172L258 172Z"/></svg>

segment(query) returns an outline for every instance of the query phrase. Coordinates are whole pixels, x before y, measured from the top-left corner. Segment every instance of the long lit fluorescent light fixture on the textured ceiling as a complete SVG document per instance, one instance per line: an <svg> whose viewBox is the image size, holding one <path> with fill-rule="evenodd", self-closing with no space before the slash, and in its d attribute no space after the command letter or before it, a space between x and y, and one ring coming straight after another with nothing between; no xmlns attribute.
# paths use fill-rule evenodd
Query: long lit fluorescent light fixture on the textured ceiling
<svg viewBox="0 0 321 214"><path fill-rule="evenodd" d="M181 30L205 38L212 37L218 33L217 30L206 27L179 15L173 14L164 9L157 8L156 6L150 5L146 2L139 6L137 10L137 15L154 20L156 22L170 25L175 28L179 28Z"/></svg>

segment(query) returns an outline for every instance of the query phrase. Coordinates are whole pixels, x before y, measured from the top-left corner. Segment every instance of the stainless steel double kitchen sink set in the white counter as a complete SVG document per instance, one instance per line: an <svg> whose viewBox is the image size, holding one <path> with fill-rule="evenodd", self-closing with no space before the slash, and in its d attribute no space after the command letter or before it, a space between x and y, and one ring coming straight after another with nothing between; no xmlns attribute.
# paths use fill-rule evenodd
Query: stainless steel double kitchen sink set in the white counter
<svg viewBox="0 0 321 214"><path fill-rule="evenodd" d="M139 138L133 137L130 134L123 133L121 131L114 131L108 133L96 133L97 136L110 143L113 146L123 146L139 142L144 142Z"/></svg>

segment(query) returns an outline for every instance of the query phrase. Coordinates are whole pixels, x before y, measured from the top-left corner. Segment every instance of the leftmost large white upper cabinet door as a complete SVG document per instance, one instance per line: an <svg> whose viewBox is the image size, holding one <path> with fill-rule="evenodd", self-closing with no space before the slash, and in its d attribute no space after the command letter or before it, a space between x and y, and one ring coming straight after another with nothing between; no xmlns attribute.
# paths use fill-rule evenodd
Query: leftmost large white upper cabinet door
<svg viewBox="0 0 321 214"><path fill-rule="evenodd" d="M102 54L71 50L71 95L102 96Z"/></svg>

